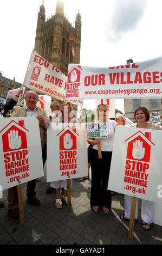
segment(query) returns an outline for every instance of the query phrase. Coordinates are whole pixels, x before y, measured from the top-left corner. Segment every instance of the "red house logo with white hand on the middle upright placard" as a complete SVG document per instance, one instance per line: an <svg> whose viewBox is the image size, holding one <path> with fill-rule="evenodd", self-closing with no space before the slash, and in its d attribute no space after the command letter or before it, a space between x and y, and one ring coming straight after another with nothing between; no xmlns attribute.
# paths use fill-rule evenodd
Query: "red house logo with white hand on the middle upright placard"
<svg viewBox="0 0 162 256"><path fill-rule="evenodd" d="M79 134L76 133L76 131L71 128L69 125L64 127L64 129L57 134L60 139L60 150L76 150L76 137L79 136Z"/></svg>

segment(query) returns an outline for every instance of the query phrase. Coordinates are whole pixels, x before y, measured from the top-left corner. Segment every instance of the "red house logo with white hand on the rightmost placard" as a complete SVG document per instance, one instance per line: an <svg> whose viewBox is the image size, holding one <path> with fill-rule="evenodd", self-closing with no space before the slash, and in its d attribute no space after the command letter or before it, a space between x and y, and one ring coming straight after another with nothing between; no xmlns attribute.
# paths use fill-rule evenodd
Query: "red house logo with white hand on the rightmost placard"
<svg viewBox="0 0 162 256"><path fill-rule="evenodd" d="M138 131L131 137L127 138L125 142L128 143L127 159L150 162L151 147L155 145L151 141L151 132L146 132L144 135L144 133ZM136 158L133 156L134 151L136 152ZM141 157L139 156L139 153L141 154Z"/></svg>

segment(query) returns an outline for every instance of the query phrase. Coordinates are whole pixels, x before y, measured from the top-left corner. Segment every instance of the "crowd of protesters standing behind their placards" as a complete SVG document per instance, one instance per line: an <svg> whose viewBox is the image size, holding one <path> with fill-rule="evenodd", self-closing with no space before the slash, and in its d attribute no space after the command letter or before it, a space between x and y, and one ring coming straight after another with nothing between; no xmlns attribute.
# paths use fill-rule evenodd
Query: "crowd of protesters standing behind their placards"
<svg viewBox="0 0 162 256"><path fill-rule="evenodd" d="M8 105L0 106L0 117L6 117L6 114L12 109L17 102L18 96L22 93L22 90L9 102ZM70 102L64 102L61 106L60 103L54 101L51 103L51 111L53 113L47 117L46 111L42 108L37 107L38 95L35 91L29 91L25 94L24 99L26 105L21 108L17 108L11 117L36 117L40 124L40 137L42 145L42 159L43 166L47 159L47 142L46 133L51 122L54 123L79 123L79 121L70 115L73 113L73 107ZM61 115L59 113L61 112ZM116 125L126 125L125 119L122 116L116 118L116 120L108 119L108 109L104 104L100 104L97 109L96 122L108 124L108 138L95 138L87 139L89 143L88 147L88 161L87 161L87 177L89 177L89 168L91 167L91 195L90 195L90 206L93 211L97 212L102 209L105 214L111 212L112 209L112 194L114 191L107 190L109 180L109 170L111 167L113 142L115 135ZM157 129L161 130L160 125L147 123L150 118L150 114L145 107L139 107L135 109L134 119L135 123L129 125L129 127L145 128L145 129ZM98 157L98 144L101 145L101 155ZM29 203L39 205L41 202L36 197L36 180L31 180L27 185L27 200ZM61 197L61 188L64 196ZM57 209L62 208L62 200L68 203L67 198L67 180L52 181L47 189L47 193L56 191L55 207ZM17 186L11 187L8 190L8 208L9 215L12 218L17 219L19 217L18 212L18 196ZM72 202L71 202L72 204ZM3 207L3 202L0 204ZM131 196L125 195L125 212L120 215L121 220L129 221L131 214ZM138 205L136 206L135 219L138 217ZM141 220L142 227L145 230L150 230L151 223L154 218L154 203L148 200L142 200L141 205Z"/></svg>

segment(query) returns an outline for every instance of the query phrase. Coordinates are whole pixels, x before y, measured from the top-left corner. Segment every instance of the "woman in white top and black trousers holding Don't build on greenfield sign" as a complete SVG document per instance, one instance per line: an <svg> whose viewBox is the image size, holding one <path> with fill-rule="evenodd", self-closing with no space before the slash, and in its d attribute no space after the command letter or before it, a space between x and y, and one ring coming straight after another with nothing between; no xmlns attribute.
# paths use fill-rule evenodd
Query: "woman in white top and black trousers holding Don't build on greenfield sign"
<svg viewBox="0 0 162 256"><path fill-rule="evenodd" d="M108 214L111 212L112 195L107 190L109 169L111 166L114 132L116 122L108 120L108 109L106 105L100 104L96 112L98 114L99 123L108 123L108 138L88 139L88 143L93 145L90 157L90 166L92 170L92 186L90 205L94 211L99 211L102 206L103 212ZM98 144L101 144L102 158L98 156Z"/></svg>

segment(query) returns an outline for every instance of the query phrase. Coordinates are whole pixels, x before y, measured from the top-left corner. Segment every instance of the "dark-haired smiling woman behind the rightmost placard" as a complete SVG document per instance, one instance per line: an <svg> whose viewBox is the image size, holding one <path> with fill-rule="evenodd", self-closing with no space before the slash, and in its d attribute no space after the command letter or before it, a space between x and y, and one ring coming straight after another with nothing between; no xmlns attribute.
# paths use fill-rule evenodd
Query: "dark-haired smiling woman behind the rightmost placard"
<svg viewBox="0 0 162 256"><path fill-rule="evenodd" d="M137 123L130 125L129 127L144 128L144 129L156 129L161 130L160 127L156 124L147 123L150 119L150 113L145 107L138 107L134 111L134 119ZM125 195L125 213L120 215L121 220L129 221L131 215L131 202L132 197ZM135 220L138 216L138 202L135 208ZM141 219L142 219L142 228L144 230L151 229L151 223L154 218L154 202L142 199L141 205Z"/></svg>

